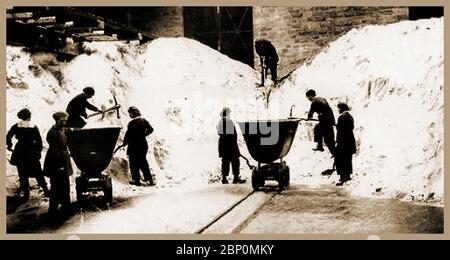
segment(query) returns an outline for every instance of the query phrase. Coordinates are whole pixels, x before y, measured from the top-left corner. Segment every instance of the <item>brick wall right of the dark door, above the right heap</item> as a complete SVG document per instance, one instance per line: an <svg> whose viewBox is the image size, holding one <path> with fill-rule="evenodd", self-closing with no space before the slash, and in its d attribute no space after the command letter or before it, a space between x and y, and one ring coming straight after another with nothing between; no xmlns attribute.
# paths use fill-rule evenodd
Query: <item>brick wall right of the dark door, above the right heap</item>
<svg viewBox="0 0 450 260"><path fill-rule="evenodd" d="M283 77L352 28L407 19L407 7L254 7L253 34L277 48Z"/></svg>

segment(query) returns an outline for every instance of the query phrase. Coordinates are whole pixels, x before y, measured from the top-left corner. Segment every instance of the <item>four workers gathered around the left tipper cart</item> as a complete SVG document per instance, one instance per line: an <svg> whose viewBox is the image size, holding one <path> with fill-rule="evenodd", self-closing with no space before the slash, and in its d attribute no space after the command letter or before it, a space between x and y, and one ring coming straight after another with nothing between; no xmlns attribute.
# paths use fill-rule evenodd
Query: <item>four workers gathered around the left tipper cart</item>
<svg viewBox="0 0 450 260"><path fill-rule="evenodd" d="M92 87L83 89L83 93L74 97L68 104L66 111L53 114L55 124L48 130L48 150L44 159L44 167L41 167L42 139L39 128L31 124L31 111L28 108L21 109L17 113L19 122L14 124L6 135L7 149L11 151L10 164L17 167L22 196L28 199L30 196L29 178L36 178L43 189L44 196L49 197L49 215L55 217L58 208L67 213L70 205L70 176L73 174L70 153L68 149L67 133L75 128L86 125L84 119L88 118L86 109L103 112L90 104L95 90ZM153 132L150 123L142 118L138 108L132 106L128 109L131 121L128 124L123 144L118 148L128 146L127 155L130 162L130 171L133 181L131 184L141 185L140 173L143 172L144 181L148 185L154 185L150 167L146 159L148 145L146 136ZM84 118L84 119L83 119ZM17 139L13 149L13 138ZM50 189L45 177L50 179Z"/></svg>

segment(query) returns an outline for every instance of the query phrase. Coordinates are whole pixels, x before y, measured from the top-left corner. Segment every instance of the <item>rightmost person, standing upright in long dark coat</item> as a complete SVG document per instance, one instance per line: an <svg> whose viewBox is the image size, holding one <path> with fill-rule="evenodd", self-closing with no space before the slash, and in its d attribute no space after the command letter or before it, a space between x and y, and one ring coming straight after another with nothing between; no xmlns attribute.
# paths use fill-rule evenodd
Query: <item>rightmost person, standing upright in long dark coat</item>
<svg viewBox="0 0 450 260"><path fill-rule="evenodd" d="M340 181L336 185L341 186L351 180L353 173L352 156L356 153L355 136L353 135L354 120L348 112L350 109L347 104L339 103L339 118L336 126L336 151L335 164Z"/></svg>

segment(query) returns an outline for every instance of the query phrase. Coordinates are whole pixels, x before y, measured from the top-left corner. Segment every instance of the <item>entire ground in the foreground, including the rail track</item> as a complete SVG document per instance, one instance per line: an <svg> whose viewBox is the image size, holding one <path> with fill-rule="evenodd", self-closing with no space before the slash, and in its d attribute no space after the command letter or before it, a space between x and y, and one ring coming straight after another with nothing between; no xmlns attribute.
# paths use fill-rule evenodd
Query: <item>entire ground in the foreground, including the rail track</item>
<svg viewBox="0 0 450 260"><path fill-rule="evenodd" d="M50 225L46 207L7 216L8 233L194 234L251 192L250 185L211 184L101 200ZM76 207L74 207L76 208ZM339 187L291 185L253 193L209 234L443 233L444 209L397 200L351 197Z"/></svg>

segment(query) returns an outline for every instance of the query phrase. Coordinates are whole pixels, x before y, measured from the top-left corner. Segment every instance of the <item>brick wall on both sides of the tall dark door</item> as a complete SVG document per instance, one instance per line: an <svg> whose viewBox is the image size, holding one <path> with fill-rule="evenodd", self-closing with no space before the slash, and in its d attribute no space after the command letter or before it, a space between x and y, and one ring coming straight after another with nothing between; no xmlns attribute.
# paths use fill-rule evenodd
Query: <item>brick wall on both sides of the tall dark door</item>
<svg viewBox="0 0 450 260"><path fill-rule="evenodd" d="M131 9L129 23L157 37L186 36L183 7ZM355 27L408 20L408 7L253 7L253 39L277 48L279 77L312 59L328 43ZM255 68L259 56L254 53Z"/></svg>

